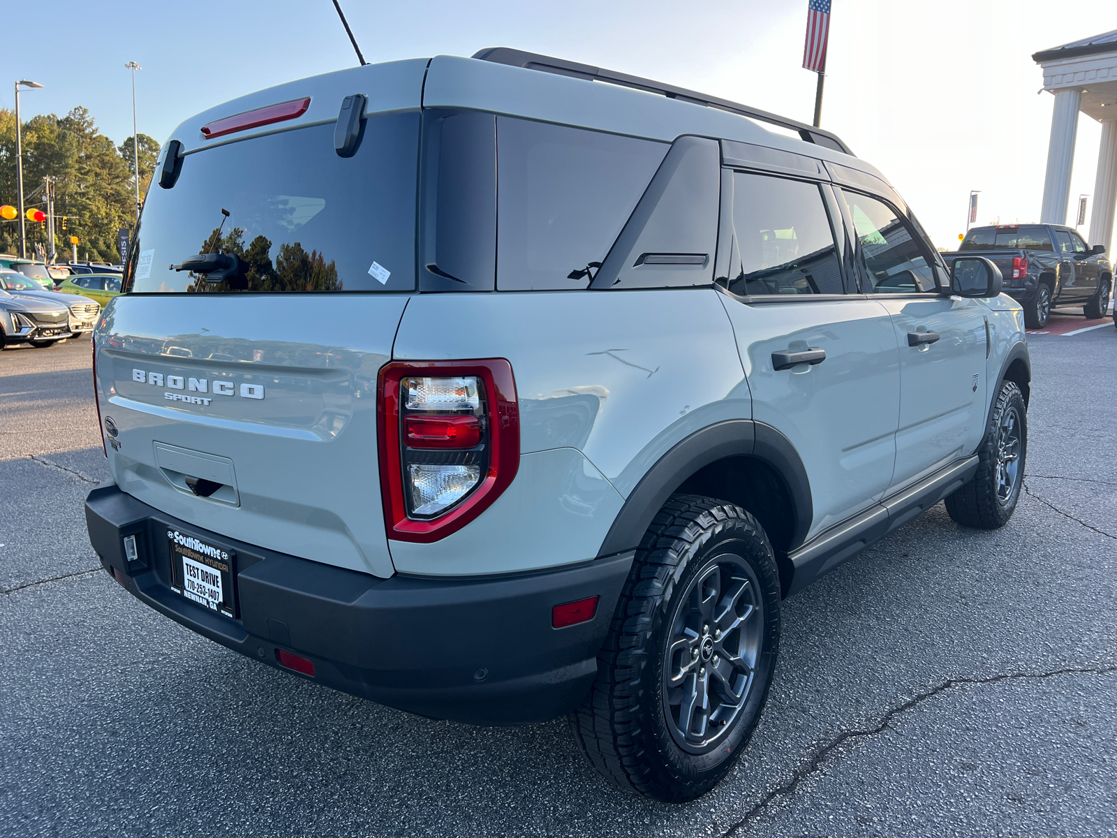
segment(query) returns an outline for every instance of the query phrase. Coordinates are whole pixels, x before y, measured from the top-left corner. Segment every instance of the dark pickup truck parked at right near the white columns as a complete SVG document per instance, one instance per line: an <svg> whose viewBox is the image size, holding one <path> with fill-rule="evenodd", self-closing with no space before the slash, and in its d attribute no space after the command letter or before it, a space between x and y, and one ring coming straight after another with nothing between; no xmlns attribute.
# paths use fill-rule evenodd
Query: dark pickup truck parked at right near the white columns
<svg viewBox="0 0 1117 838"><path fill-rule="evenodd" d="M1081 305L1089 318L1106 316L1114 272L1105 253L1070 227L997 225L970 228L958 249L943 258L947 268L960 256L992 259L1004 293L1024 307L1024 323L1042 328L1056 305Z"/></svg>

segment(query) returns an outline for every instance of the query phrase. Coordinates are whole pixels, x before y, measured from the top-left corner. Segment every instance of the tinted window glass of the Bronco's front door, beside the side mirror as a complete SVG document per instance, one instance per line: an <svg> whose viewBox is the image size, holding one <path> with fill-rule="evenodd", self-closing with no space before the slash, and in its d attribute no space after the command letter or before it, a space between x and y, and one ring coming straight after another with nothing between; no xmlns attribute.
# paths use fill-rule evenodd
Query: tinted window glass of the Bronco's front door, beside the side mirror
<svg viewBox="0 0 1117 838"><path fill-rule="evenodd" d="M899 213L884 201L843 191L857 231L865 267L876 294L918 294L935 291L935 279L923 246Z"/></svg>

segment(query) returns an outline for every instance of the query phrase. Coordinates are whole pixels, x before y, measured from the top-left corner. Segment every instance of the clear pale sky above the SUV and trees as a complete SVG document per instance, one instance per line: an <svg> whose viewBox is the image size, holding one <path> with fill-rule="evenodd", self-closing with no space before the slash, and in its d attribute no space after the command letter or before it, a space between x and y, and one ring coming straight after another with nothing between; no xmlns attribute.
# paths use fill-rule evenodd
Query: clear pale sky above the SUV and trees
<svg viewBox="0 0 1117 838"><path fill-rule="evenodd" d="M812 115L815 76L800 66L806 0L342 8L372 63L508 46ZM20 94L25 118L85 105L117 142L132 134L130 60L143 67L140 131L160 142L211 105L356 63L331 0L11 0L3 20L0 107L12 106L12 82L30 78L46 88ZM981 222L1035 220L1053 99L1037 95L1031 55L1115 28L1114 0L833 0L822 124L884 171L936 245L957 241L971 189L982 190ZM1099 137L1081 116L1072 208L1094 191Z"/></svg>

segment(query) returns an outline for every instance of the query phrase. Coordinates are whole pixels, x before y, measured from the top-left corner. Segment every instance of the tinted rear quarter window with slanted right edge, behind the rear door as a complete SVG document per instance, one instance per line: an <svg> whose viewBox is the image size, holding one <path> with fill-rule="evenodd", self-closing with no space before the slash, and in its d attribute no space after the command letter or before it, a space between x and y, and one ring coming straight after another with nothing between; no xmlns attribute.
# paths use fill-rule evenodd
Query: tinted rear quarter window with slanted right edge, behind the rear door
<svg viewBox="0 0 1117 838"><path fill-rule="evenodd" d="M506 117L496 133L497 287L584 288L669 146Z"/></svg>

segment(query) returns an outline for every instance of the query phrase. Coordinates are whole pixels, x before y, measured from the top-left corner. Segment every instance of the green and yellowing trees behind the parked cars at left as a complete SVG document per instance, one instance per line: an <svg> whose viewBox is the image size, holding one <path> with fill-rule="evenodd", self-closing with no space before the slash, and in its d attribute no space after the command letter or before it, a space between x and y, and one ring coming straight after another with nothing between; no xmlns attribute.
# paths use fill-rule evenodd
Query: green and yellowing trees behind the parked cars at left
<svg viewBox="0 0 1117 838"><path fill-rule="evenodd" d="M55 180L55 248L59 261L73 253L77 236L82 260L120 263L116 231L135 222L133 142L116 145L101 133L89 112L75 107L65 116L40 114L21 126L23 145L23 208L46 211L44 177ZM159 143L139 134L140 197L159 156ZM16 114L0 108L0 204L17 203ZM65 229L63 218L65 217ZM47 225L26 221L28 256L36 245L49 250ZM0 253L19 253L19 220L0 220Z"/></svg>

